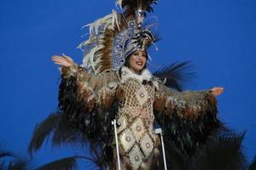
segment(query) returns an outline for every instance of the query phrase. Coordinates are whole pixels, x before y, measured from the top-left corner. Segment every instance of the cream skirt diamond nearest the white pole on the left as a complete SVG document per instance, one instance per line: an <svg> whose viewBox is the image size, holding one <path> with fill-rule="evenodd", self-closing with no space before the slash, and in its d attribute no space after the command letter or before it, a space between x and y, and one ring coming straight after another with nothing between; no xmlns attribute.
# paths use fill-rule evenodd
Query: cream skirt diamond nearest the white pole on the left
<svg viewBox="0 0 256 170"><path fill-rule="evenodd" d="M129 152L129 150L131 150L131 147L136 142L136 139L134 138L130 128L125 129L125 131L119 135L119 140L122 149L126 153Z"/></svg>

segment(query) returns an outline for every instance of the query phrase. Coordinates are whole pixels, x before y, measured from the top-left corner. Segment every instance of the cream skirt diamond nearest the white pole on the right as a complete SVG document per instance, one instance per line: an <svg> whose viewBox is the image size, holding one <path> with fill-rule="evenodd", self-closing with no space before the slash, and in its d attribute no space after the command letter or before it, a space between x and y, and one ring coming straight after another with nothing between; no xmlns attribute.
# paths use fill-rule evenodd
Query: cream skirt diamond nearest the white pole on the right
<svg viewBox="0 0 256 170"><path fill-rule="evenodd" d="M143 139L140 142L141 148L143 150L143 154L146 158L151 155L153 149L154 149L154 141L151 139L151 137L146 133L143 136Z"/></svg>

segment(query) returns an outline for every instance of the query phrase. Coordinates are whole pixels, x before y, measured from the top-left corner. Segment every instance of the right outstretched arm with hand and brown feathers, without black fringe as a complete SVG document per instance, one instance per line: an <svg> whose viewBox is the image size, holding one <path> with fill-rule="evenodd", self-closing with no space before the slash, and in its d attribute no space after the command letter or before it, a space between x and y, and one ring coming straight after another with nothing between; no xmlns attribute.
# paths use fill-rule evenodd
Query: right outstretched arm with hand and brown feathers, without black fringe
<svg viewBox="0 0 256 170"><path fill-rule="evenodd" d="M198 116L207 112L212 114L217 112L216 96L223 91L224 88L211 88L178 92L160 84L160 89L156 92L154 109L168 116L177 115L182 118L197 119Z"/></svg>

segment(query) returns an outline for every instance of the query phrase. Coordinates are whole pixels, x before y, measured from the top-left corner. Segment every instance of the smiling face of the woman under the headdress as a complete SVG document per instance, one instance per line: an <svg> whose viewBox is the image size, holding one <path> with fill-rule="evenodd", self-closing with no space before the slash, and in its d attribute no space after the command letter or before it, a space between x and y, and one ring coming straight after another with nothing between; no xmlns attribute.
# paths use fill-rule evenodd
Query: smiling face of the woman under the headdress
<svg viewBox="0 0 256 170"><path fill-rule="evenodd" d="M143 70L144 65L147 61L147 54L145 51L136 51L131 54L130 58L128 59L128 67L131 71L139 74L140 71Z"/></svg>

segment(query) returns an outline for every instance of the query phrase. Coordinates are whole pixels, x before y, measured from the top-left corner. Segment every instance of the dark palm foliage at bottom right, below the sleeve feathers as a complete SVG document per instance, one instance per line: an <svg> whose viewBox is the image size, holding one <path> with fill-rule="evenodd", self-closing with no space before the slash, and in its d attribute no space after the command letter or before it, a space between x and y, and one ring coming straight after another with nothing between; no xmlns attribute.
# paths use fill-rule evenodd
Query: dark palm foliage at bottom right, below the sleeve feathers
<svg viewBox="0 0 256 170"><path fill-rule="evenodd" d="M246 156L242 153L245 133L223 133L211 136L192 156L183 156L174 144L165 141L172 152L166 153L168 169L177 170L246 170Z"/></svg>

